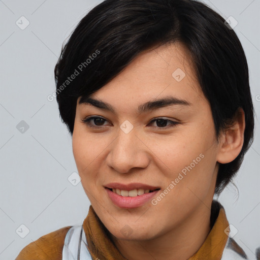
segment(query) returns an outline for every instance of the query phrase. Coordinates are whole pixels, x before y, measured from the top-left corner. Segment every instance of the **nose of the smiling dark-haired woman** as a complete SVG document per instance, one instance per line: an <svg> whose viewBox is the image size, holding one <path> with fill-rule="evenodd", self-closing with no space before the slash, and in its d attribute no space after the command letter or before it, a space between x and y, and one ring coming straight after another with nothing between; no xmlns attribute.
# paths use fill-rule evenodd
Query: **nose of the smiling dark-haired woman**
<svg viewBox="0 0 260 260"><path fill-rule="evenodd" d="M119 129L118 137L112 142L107 156L107 165L118 173L128 173L133 168L146 168L150 162L149 148L144 138L134 129L128 134Z"/></svg>

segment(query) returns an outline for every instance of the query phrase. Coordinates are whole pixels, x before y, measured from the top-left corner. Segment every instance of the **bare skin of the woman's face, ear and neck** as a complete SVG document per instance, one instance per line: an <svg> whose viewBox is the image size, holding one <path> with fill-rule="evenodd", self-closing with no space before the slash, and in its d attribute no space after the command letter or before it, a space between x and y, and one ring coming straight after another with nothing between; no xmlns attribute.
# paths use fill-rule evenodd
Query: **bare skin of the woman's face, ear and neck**
<svg viewBox="0 0 260 260"><path fill-rule="evenodd" d="M172 73L186 76L177 82ZM140 104L167 95L188 101L138 115ZM161 45L141 53L112 81L90 95L109 103L115 114L77 104L73 153L81 183L90 203L111 233L111 239L129 260L184 260L198 251L210 232L210 208L218 163L229 163L242 149L244 113L216 142L208 101L193 72L187 49L179 43ZM102 123L87 116L101 116ZM180 122L164 127L154 118ZM120 125L134 126L125 134ZM110 182L141 182L163 191L200 154L204 158L158 202L122 209L104 188ZM128 225L131 236L120 231Z"/></svg>

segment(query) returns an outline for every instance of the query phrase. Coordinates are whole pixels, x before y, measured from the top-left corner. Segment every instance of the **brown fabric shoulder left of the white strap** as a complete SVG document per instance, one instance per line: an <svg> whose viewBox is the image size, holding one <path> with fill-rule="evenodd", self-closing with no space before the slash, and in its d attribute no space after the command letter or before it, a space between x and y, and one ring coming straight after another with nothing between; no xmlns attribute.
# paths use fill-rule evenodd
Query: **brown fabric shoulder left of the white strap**
<svg viewBox="0 0 260 260"><path fill-rule="evenodd" d="M15 260L61 260L64 239L71 226L51 232L22 249Z"/></svg>

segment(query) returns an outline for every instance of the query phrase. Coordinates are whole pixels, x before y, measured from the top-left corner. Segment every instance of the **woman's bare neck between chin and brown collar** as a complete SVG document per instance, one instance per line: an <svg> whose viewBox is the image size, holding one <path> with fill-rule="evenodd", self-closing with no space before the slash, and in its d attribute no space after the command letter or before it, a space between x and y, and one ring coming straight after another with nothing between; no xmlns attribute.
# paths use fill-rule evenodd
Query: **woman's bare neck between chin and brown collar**
<svg viewBox="0 0 260 260"><path fill-rule="evenodd" d="M202 203L181 224L148 241L120 240L112 234L111 239L128 260L186 260L199 250L211 230L210 209L211 204Z"/></svg>

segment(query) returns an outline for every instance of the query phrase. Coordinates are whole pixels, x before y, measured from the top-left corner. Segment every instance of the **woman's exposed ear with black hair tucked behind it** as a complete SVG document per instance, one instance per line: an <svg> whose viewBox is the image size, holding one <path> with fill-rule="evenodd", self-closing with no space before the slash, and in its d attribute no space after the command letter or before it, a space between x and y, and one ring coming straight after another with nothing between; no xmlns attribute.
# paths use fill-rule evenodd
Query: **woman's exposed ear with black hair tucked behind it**
<svg viewBox="0 0 260 260"><path fill-rule="evenodd" d="M234 123L221 134L221 142L217 154L220 164L228 164L239 155L244 143L245 113L242 108L237 110Z"/></svg>

